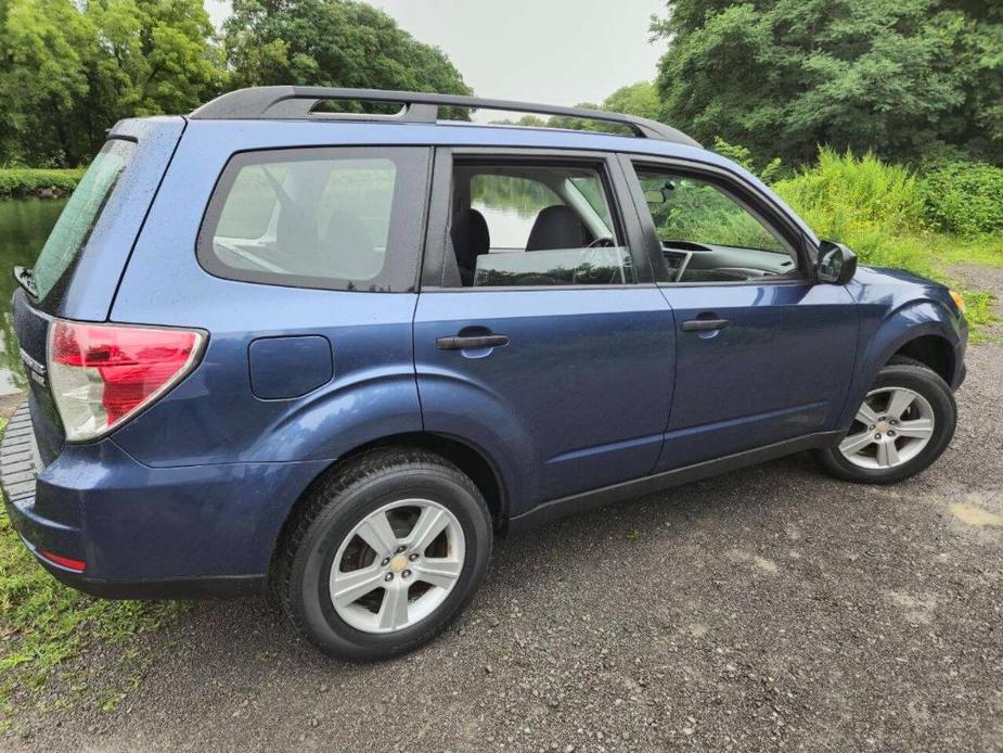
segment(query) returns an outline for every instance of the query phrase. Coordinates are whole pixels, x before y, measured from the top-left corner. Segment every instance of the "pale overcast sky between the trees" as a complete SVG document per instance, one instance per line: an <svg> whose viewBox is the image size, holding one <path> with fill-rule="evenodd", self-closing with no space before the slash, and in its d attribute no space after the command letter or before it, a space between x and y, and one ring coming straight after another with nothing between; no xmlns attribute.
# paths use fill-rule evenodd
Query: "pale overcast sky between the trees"
<svg viewBox="0 0 1003 753"><path fill-rule="evenodd" d="M546 104L602 102L655 77L664 41L648 43L663 0L371 0L437 44L481 97ZM219 25L228 3L207 0ZM497 115L494 115L497 117Z"/></svg>

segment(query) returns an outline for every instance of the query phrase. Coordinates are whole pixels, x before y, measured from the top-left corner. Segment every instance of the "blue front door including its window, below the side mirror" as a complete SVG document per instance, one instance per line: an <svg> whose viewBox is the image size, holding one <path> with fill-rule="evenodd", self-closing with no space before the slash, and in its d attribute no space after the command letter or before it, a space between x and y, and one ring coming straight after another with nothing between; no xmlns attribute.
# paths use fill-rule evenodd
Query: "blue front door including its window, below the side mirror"
<svg viewBox="0 0 1003 753"><path fill-rule="evenodd" d="M843 286L813 282L803 230L737 174L623 163L676 315L676 390L657 470L834 429L857 311Z"/></svg>

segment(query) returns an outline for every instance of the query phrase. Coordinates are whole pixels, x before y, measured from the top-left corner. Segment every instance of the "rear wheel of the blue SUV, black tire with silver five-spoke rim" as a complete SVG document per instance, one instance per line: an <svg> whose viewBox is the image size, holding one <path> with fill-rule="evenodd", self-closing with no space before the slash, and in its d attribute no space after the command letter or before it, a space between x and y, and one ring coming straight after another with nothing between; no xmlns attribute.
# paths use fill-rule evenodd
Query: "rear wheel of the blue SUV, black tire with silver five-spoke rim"
<svg viewBox="0 0 1003 753"><path fill-rule="evenodd" d="M447 524L434 540L409 543L408 537L421 538L422 521ZM428 525L433 535L436 526ZM381 537L380 531L389 533ZM463 611L480 585L491 547L491 514L464 473L425 450L378 449L351 460L309 493L285 537L274 588L292 624L324 653L351 661L389 659L432 640ZM373 574L380 583L349 603L356 590L373 585ZM357 577L362 585L332 577ZM340 588L336 604L333 595Z"/></svg>

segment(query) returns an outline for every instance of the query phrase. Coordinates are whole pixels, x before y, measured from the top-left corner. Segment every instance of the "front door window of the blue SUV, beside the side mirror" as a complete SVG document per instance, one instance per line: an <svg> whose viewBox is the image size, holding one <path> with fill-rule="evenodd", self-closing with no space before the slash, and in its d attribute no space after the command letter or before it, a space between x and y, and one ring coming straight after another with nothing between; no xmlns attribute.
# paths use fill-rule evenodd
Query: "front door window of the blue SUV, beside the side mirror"
<svg viewBox="0 0 1003 753"><path fill-rule="evenodd" d="M744 282L796 277L789 244L720 186L635 166L674 282Z"/></svg>

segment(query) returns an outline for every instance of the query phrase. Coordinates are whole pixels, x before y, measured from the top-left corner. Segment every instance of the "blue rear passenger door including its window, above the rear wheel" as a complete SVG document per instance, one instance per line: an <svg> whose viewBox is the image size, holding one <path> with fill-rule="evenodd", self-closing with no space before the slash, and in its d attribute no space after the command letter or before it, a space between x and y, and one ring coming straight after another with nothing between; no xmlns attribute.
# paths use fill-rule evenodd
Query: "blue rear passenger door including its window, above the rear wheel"
<svg viewBox="0 0 1003 753"><path fill-rule="evenodd" d="M673 319L613 157L439 150L414 358L428 432L502 465L511 514L643 476Z"/></svg>

